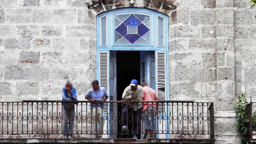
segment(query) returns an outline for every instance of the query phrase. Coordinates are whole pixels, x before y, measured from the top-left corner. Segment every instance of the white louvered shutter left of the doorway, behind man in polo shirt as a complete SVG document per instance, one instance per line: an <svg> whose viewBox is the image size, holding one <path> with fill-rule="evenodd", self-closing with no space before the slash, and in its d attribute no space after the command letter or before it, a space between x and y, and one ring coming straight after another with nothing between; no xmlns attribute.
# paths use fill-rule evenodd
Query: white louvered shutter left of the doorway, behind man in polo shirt
<svg viewBox="0 0 256 144"><path fill-rule="evenodd" d="M99 53L99 84L108 92L108 52ZM107 113L107 106L104 113Z"/></svg>

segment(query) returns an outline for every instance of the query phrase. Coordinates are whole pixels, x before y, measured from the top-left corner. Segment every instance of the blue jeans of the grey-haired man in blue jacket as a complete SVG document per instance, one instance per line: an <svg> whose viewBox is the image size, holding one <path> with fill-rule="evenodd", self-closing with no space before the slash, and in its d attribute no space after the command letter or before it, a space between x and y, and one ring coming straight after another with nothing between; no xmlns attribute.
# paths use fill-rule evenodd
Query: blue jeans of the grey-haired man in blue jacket
<svg viewBox="0 0 256 144"><path fill-rule="evenodd" d="M63 117L63 135L72 135L73 124L75 118L75 107L70 109L65 109L62 107L62 117ZM68 127L67 127L68 126Z"/></svg>

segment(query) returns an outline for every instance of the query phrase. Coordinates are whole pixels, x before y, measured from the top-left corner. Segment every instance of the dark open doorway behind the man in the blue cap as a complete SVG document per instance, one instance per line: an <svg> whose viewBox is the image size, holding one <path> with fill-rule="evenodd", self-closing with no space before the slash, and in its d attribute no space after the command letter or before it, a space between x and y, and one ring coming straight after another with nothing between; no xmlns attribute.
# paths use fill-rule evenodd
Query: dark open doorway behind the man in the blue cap
<svg viewBox="0 0 256 144"><path fill-rule="evenodd" d="M140 52L139 51L121 51L116 52L116 100L122 100L122 93L131 80L136 79L140 84ZM122 113L122 107L117 107L118 112ZM129 127L129 126L128 126ZM122 132L122 124L118 123L118 133ZM123 138L129 138L128 135L122 135ZM120 134L117 135L120 138ZM130 135L131 138L131 135Z"/></svg>

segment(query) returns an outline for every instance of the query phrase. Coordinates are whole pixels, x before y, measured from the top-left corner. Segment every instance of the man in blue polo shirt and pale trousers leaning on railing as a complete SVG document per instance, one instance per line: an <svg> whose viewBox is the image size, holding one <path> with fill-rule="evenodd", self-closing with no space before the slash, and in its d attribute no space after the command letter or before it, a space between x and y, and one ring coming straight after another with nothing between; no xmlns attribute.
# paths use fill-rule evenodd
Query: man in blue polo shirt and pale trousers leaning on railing
<svg viewBox="0 0 256 144"><path fill-rule="evenodd" d="M94 80L92 81L92 88L89 89L85 95L85 99L92 102L90 105L92 114L92 133L95 134L95 138L102 138L103 127L105 123L103 119L103 108L105 107L105 104L103 102L108 99L108 93L104 87L99 86L99 81ZM99 130L97 132L98 136L96 135L96 118L99 124Z"/></svg>

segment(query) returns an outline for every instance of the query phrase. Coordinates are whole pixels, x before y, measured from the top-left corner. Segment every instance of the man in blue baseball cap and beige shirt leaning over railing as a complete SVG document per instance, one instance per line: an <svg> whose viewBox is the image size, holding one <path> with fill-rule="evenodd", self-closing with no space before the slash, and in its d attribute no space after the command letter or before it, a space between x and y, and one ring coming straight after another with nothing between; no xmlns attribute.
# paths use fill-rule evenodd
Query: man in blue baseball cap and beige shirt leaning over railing
<svg viewBox="0 0 256 144"><path fill-rule="evenodd" d="M133 126L130 127L132 130L132 137L138 139L138 132L140 131L140 120L142 115L142 103L141 98L143 95L143 88L138 85L137 80L132 80L131 84L127 86L122 94L122 103L126 104L128 101L137 102L131 103L128 102L123 108L123 127L122 131L128 133L128 119L132 120ZM131 115L131 116L130 116ZM129 122L130 123L130 122Z"/></svg>

